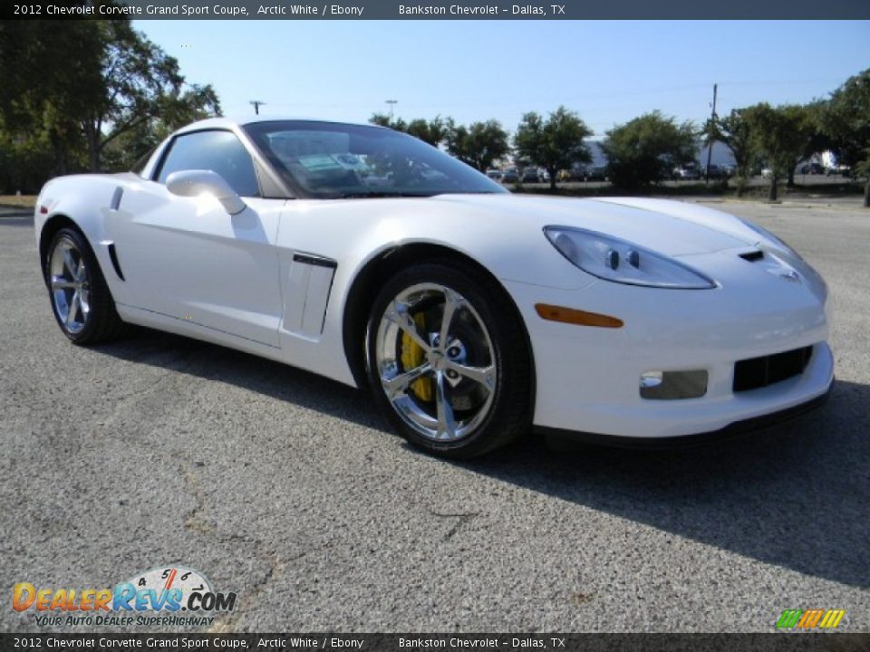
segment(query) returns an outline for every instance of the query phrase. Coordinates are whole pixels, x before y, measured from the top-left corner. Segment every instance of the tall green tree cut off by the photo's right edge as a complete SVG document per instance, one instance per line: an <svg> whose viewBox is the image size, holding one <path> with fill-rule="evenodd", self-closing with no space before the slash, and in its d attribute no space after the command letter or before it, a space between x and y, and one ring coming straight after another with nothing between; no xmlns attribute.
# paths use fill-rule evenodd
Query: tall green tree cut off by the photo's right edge
<svg viewBox="0 0 870 652"><path fill-rule="evenodd" d="M831 93L822 127L838 163L865 176L864 206L870 207L870 69L850 77Z"/></svg>

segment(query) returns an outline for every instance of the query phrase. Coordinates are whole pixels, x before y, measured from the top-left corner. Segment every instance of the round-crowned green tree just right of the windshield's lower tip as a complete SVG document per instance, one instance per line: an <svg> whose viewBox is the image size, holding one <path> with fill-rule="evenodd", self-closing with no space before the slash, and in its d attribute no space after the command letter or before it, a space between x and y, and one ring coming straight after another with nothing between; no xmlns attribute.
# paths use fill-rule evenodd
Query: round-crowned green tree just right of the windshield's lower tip
<svg viewBox="0 0 870 652"><path fill-rule="evenodd" d="M560 106L547 120L532 111L523 115L514 137L517 154L550 175L550 189L556 189L559 170L574 163L592 160L584 140L592 135L585 122L574 112Z"/></svg>

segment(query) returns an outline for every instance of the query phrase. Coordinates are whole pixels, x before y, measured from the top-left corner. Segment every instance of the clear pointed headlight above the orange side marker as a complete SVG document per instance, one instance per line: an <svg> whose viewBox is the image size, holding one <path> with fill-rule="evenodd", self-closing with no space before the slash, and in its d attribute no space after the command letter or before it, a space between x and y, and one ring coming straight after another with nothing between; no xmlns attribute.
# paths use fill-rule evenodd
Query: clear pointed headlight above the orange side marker
<svg viewBox="0 0 870 652"><path fill-rule="evenodd" d="M565 258L605 281L680 290L716 287L688 265L610 235L571 226L546 226L544 233Z"/></svg>

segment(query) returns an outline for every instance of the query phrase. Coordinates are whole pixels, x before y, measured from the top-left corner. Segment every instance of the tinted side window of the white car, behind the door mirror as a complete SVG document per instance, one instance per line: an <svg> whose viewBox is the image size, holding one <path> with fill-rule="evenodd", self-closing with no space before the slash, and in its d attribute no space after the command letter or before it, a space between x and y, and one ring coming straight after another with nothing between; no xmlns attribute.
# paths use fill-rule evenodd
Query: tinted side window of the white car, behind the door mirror
<svg viewBox="0 0 870 652"><path fill-rule="evenodd" d="M217 172L239 197L259 197L254 161L230 131L196 131L175 139L163 158L157 180L165 184L173 172L210 169Z"/></svg>

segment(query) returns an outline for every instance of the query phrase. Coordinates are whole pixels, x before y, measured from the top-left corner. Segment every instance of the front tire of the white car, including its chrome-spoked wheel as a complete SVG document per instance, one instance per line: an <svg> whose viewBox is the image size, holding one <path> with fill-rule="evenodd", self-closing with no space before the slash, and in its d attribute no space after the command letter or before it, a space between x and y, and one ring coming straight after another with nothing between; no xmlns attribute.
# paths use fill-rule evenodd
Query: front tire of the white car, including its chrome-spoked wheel
<svg viewBox="0 0 870 652"><path fill-rule="evenodd" d="M462 302L455 304L447 342L440 347L439 314L443 317L448 296L452 302L457 295ZM400 310L411 320L404 327L396 321ZM411 327L428 339L429 351L420 344L409 349ZM373 302L365 350L374 400L413 446L468 459L506 445L530 427L533 371L524 324L504 288L471 264L437 259L393 276ZM405 356L413 359L415 351L418 358L409 363ZM416 378L428 379L428 390L415 386L417 380L403 381L401 391L388 398L384 383L425 367L430 371ZM469 371L475 376L467 376ZM443 415L449 418L442 420ZM415 420L427 418L437 426Z"/></svg>

